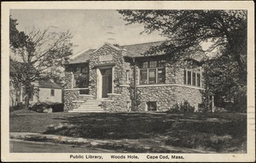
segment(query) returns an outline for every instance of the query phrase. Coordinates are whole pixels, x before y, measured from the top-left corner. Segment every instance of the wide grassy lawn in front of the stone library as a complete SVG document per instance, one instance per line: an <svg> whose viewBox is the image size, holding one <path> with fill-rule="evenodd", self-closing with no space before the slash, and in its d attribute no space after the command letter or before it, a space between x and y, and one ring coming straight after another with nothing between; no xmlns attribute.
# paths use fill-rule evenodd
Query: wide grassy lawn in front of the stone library
<svg viewBox="0 0 256 163"><path fill-rule="evenodd" d="M170 147L245 153L247 115L166 113L11 114L10 132L149 141ZM104 148L110 147L106 146Z"/></svg>

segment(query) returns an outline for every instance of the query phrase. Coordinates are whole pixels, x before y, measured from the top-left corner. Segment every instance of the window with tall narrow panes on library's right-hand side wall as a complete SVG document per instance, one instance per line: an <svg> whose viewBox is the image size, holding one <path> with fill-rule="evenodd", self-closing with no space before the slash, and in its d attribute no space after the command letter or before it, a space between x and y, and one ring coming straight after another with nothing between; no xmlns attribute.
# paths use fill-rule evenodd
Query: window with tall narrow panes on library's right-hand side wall
<svg viewBox="0 0 256 163"><path fill-rule="evenodd" d="M189 86L201 87L201 70L183 70L183 83Z"/></svg>

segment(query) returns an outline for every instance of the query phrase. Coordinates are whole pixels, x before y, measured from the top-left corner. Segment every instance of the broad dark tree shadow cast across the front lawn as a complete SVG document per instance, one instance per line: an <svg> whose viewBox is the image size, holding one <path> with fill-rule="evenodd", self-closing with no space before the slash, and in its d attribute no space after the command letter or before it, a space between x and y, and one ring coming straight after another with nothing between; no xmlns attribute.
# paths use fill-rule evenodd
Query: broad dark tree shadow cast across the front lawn
<svg viewBox="0 0 256 163"><path fill-rule="evenodd" d="M209 117L215 117L217 121L208 121ZM90 113L60 117L63 124L49 127L45 133L99 139L177 137L183 132L230 135L232 138L246 135L246 116L236 119L224 117L201 114Z"/></svg>

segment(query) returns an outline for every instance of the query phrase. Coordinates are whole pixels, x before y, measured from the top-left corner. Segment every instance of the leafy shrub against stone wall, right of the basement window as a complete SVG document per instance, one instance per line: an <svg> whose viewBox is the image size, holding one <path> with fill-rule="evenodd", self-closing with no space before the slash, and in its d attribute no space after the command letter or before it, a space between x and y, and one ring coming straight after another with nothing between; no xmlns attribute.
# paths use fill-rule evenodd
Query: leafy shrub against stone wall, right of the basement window
<svg viewBox="0 0 256 163"><path fill-rule="evenodd" d="M181 104L174 104L171 109L167 110L167 113L193 113L194 111L195 107L185 100Z"/></svg>

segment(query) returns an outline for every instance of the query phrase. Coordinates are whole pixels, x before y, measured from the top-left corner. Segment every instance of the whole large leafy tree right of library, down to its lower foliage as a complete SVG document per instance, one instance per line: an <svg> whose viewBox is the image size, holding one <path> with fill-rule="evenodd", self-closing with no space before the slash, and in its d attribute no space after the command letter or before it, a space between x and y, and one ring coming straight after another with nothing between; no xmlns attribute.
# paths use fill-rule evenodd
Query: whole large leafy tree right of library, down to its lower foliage
<svg viewBox="0 0 256 163"><path fill-rule="evenodd" d="M247 84L246 10L118 10L127 25L143 24L150 34L160 31L166 42L145 54L165 53L171 59L187 59L188 50L211 53L201 61L189 59L208 70L208 87L213 93L244 90ZM202 42L210 44L202 50ZM218 79L218 80L217 80ZM213 84L215 83L215 84ZM243 88L241 88L243 87ZM219 89L220 88L220 89ZM244 92L243 92L244 93Z"/></svg>

